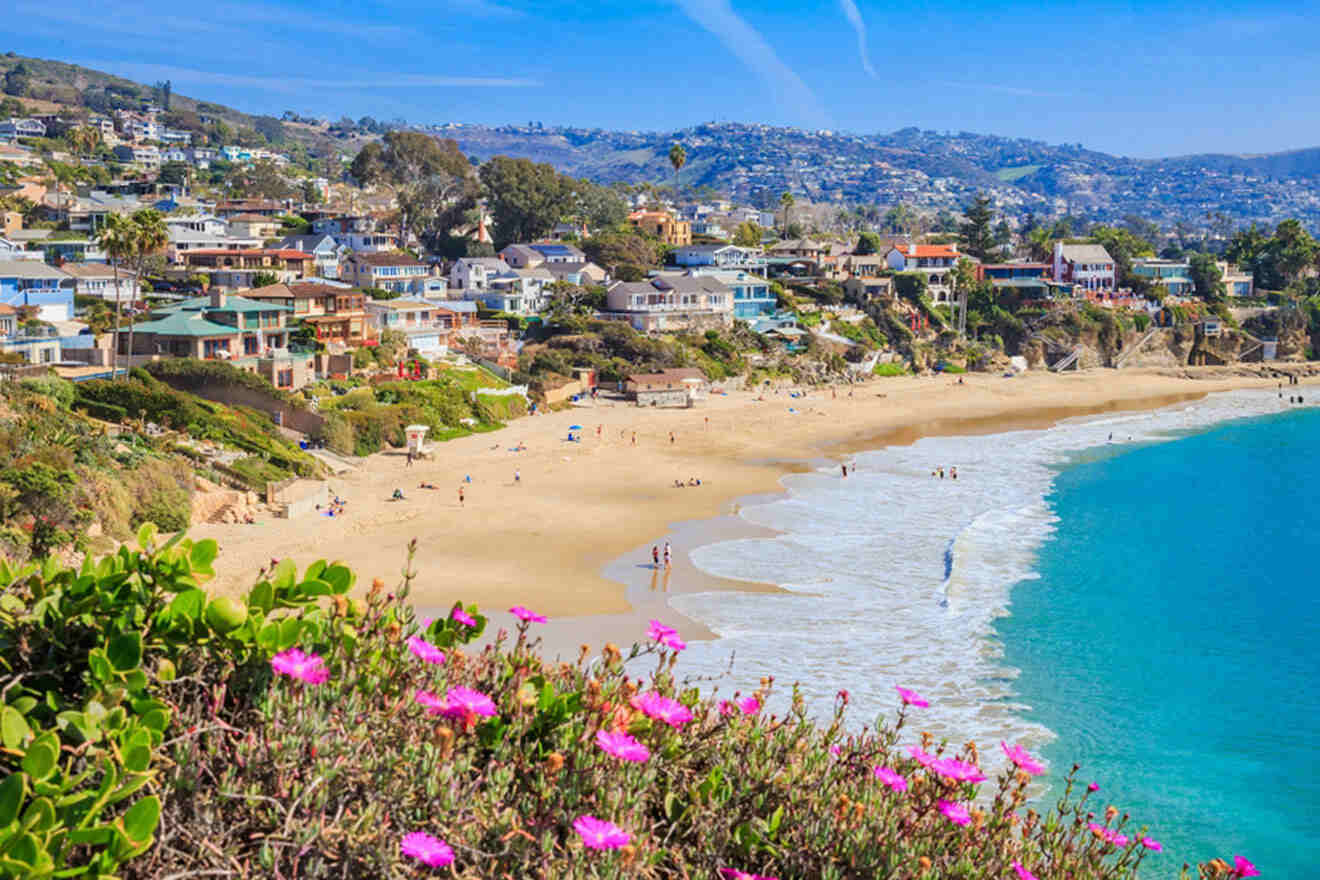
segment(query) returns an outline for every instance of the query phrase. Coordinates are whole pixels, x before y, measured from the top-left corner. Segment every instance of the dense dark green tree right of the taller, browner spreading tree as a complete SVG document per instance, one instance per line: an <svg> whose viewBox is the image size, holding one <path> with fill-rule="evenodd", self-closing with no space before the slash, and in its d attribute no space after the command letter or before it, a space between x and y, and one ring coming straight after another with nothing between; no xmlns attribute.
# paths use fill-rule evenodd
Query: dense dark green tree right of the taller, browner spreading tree
<svg viewBox="0 0 1320 880"><path fill-rule="evenodd" d="M482 165L480 179L500 247L546 235L573 208L573 182L552 165L496 156Z"/></svg>

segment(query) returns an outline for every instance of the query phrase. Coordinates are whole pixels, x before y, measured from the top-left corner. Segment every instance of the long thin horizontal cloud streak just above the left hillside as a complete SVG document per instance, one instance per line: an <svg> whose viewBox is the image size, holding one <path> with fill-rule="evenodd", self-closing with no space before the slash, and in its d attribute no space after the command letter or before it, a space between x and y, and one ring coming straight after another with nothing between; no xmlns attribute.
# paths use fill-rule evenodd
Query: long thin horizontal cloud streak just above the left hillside
<svg viewBox="0 0 1320 880"><path fill-rule="evenodd" d="M264 88L273 92L306 94L317 88L363 90L363 88L535 88L541 83L536 79L519 77L441 77L430 74L362 74L338 79L304 79L300 77L253 77L248 74L222 74L211 70L193 70L173 65L116 63L114 61L88 61L91 67L124 71L136 79L166 78L176 84L187 86L240 86Z"/></svg>

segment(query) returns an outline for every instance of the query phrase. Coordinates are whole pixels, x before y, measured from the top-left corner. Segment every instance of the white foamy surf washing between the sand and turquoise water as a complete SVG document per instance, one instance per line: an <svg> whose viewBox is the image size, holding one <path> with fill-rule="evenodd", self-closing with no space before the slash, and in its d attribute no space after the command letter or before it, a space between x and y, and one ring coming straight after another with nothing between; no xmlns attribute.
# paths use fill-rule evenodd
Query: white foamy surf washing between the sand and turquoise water
<svg viewBox="0 0 1320 880"><path fill-rule="evenodd" d="M809 710L832 712L847 689L854 723L892 715L895 685L929 698L916 730L974 739L995 767L1001 739L1036 747L1052 738L1015 702L1016 670L1002 662L993 621L1014 583L1035 577L1053 529L1045 501L1059 464L1113 442L1158 442L1229 418L1283 409L1274 392L1230 392L1176 408L1089 417L1049 430L933 437L783 479L787 495L741 516L780 534L698 548L693 562L726 578L777 583L785 594L680 595L673 607L719 639L694 643L680 672L718 676L722 693L774 676L766 711L783 712L800 682ZM958 479L931 471L950 466ZM916 731L912 732L915 740Z"/></svg>

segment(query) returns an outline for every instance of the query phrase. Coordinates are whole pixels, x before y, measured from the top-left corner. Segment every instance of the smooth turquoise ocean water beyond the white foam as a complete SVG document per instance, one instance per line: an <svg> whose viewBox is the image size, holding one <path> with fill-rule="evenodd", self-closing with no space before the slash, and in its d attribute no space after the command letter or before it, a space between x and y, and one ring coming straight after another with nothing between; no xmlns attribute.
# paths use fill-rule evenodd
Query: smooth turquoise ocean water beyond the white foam
<svg viewBox="0 0 1320 880"><path fill-rule="evenodd" d="M1080 453L997 620L1044 753L1150 822L1148 876L1320 855L1320 412Z"/></svg>

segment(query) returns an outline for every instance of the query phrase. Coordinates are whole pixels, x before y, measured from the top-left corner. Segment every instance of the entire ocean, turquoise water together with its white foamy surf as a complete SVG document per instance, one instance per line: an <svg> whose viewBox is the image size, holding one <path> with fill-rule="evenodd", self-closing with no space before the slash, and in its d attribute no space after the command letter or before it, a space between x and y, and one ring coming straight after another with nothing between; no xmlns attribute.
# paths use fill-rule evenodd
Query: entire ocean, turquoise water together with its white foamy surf
<svg viewBox="0 0 1320 880"><path fill-rule="evenodd" d="M973 739L994 769L999 740L1024 744L1051 764L1045 802L1082 764L1105 803L1164 842L1144 876L1236 852L1305 876L1320 815L1316 449L1320 410L1232 392L925 438L857 455L846 479L787 476L784 496L741 511L777 536L693 551L711 574L785 592L675 596L719 636L680 670L723 674L721 693L774 676L767 711L793 682L820 716L847 689L857 726L913 687L931 708L911 741Z"/></svg>

